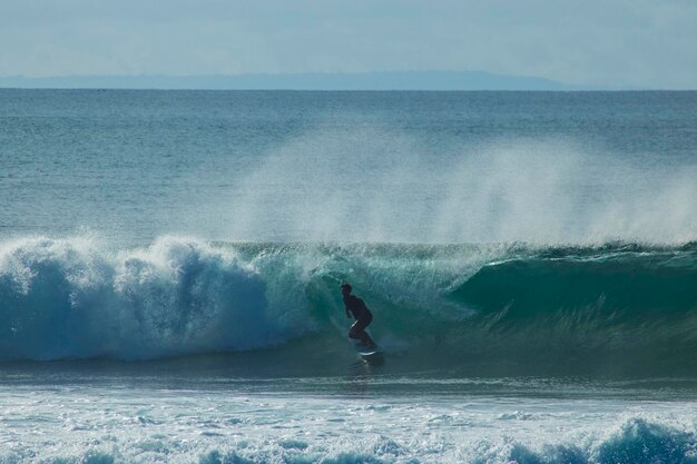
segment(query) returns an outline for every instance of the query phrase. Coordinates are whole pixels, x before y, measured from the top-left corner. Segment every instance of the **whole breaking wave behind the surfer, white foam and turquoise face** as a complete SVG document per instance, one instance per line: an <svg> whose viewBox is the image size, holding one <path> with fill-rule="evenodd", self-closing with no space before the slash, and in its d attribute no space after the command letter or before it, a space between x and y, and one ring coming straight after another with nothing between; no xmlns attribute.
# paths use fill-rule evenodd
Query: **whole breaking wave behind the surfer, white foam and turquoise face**
<svg viewBox="0 0 697 464"><path fill-rule="evenodd" d="M89 237L0 249L2 359L345 352L338 285L402 371L695 367L697 247L207 244L114 250ZM348 351L350 352L350 351Z"/></svg>

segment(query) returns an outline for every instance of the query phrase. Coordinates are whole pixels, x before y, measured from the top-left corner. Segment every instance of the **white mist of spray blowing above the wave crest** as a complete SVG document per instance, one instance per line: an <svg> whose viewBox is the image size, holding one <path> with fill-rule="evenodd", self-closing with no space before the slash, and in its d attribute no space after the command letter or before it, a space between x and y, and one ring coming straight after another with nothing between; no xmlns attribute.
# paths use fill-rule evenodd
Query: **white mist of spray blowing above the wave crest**
<svg viewBox="0 0 697 464"><path fill-rule="evenodd" d="M268 154L210 208L220 236L246 240L683 243L697 230L696 176L569 140L435 156L404 134L342 128Z"/></svg>

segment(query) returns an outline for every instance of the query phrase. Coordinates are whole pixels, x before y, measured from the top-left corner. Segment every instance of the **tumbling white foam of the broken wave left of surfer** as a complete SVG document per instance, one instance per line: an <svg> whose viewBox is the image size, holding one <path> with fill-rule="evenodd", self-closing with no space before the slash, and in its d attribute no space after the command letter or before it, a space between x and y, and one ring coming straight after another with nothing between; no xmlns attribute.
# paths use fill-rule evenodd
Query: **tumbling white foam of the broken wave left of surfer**
<svg viewBox="0 0 697 464"><path fill-rule="evenodd" d="M268 313L288 308L268 305L266 284L233 249L175 237L125 251L89 237L4 244L0 298L4 358L251 349L303 330Z"/></svg>

